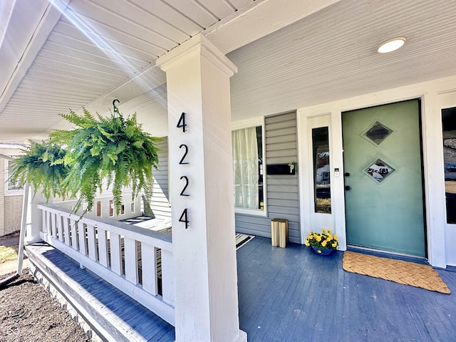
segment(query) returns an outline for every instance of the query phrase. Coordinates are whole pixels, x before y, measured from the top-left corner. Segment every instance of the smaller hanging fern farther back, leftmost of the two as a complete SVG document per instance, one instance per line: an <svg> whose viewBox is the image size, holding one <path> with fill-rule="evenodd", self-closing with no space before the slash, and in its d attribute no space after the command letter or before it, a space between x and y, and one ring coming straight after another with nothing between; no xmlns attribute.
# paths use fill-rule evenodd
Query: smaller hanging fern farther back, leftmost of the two
<svg viewBox="0 0 456 342"><path fill-rule="evenodd" d="M66 177L70 170L63 163L66 150L51 140L29 143L24 155L16 157L10 166L12 180L21 185L28 182L35 192L41 189L47 200L51 197L65 198Z"/></svg>

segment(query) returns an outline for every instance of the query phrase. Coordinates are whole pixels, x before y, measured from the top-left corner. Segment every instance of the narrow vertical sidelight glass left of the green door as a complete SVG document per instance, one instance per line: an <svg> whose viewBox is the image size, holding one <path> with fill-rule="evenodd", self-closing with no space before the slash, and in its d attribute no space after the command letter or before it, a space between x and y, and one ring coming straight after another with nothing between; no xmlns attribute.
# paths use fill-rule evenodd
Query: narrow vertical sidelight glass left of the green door
<svg viewBox="0 0 456 342"><path fill-rule="evenodd" d="M315 212L331 214L331 169L327 127L312 130L312 150L314 154Z"/></svg>

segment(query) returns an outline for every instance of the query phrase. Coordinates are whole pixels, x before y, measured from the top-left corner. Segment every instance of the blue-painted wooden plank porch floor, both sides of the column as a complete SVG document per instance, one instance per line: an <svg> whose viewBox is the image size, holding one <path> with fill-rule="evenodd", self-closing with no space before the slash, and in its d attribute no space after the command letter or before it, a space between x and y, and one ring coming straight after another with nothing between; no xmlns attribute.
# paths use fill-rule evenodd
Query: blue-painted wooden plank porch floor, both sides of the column
<svg viewBox="0 0 456 342"><path fill-rule="evenodd" d="M95 306L102 304L107 311L98 319L127 329L130 341L174 341L172 325L65 254L43 244L27 249L36 275L54 269L52 279L38 279L87 291L78 294L78 303L90 297ZM239 324L249 341L453 341L455 296L343 271L342 257L343 252L320 256L299 244L271 247L264 237L240 248ZM437 272L456 291L456 273ZM100 333L103 322L88 323ZM119 334L116 341L129 340Z"/></svg>

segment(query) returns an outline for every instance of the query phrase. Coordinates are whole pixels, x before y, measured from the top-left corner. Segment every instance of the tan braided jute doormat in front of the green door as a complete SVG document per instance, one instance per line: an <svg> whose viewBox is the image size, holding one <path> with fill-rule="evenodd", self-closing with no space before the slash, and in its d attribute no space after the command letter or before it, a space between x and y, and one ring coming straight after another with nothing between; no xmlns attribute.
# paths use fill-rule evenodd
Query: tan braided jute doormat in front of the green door
<svg viewBox="0 0 456 342"><path fill-rule="evenodd" d="M399 284L450 294L447 284L442 281L431 266L427 265L355 252L344 252L343 269L352 273L395 281Z"/></svg>

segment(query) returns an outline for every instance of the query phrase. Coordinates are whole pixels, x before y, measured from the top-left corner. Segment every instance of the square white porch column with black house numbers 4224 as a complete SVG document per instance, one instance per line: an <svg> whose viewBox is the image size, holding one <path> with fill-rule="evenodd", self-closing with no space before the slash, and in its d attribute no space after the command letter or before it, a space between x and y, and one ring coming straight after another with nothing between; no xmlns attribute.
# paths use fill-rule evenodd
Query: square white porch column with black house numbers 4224
<svg viewBox="0 0 456 342"><path fill-rule="evenodd" d="M234 243L229 77L237 68L201 35L157 66L167 76L176 341L247 341ZM176 127L184 116L185 132Z"/></svg>

